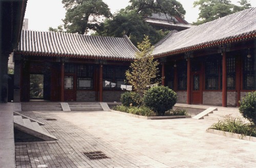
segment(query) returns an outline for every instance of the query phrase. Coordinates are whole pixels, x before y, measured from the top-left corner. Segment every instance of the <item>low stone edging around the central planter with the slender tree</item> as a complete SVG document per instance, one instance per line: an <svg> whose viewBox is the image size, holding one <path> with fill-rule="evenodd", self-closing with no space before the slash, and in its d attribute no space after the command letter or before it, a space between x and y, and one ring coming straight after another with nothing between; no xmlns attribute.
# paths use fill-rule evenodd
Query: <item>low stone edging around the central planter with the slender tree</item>
<svg viewBox="0 0 256 168"><path fill-rule="evenodd" d="M142 115L136 115L116 110L111 110L111 112L132 116L136 118L143 118L143 119L175 119L175 118L191 118L191 115L165 115L165 116L142 116Z"/></svg>

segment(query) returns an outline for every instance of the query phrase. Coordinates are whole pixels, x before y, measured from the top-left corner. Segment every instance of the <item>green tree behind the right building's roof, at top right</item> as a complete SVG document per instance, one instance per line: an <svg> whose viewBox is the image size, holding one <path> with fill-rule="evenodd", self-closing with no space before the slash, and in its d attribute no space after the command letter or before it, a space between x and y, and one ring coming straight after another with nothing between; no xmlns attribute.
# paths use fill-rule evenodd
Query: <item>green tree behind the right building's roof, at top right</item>
<svg viewBox="0 0 256 168"><path fill-rule="evenodd" d="M241 6L231 4L230 0L199 0L194 2L194 7L199 7L200 13L195 25L212 21L234 12L249 8L247 0L239 1Z"/></svg>

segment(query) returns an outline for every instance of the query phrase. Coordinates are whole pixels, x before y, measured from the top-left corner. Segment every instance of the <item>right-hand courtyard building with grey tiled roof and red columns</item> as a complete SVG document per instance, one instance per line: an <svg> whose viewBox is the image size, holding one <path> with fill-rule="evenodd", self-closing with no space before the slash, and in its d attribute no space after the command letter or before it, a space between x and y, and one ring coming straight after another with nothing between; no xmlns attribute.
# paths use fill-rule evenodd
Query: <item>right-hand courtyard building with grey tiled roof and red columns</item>
<svg viewBox="0 0 256 168"><path fill-rule="evenodd" d="M171 32L155 45L178 102L239 106L256 89L256 8Z"/></svg>

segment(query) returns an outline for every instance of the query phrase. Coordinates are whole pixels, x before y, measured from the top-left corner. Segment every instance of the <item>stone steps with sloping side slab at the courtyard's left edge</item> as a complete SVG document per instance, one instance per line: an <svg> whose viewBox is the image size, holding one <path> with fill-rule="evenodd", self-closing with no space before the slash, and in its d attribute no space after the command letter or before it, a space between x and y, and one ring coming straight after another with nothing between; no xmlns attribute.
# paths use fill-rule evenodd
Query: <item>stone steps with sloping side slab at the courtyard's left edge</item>
<svg viewBox="0 0 256 168"><path fill-rule="evenodd" d="M22 141L57 140L40 123L30 117L14 112L15 138Z"/></svg>

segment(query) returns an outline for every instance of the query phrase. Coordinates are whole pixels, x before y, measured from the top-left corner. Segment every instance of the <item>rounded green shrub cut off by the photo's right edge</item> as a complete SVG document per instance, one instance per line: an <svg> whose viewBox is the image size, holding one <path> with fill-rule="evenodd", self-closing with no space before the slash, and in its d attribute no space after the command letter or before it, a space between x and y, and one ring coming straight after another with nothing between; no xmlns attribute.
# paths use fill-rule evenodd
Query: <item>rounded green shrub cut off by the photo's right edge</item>
<svg viewBox="0 0 256 168"><path fill-rule="evenodd" d="M256 91L250 92L240 102L240 113L256 126Z"/></svg>

